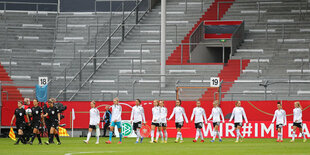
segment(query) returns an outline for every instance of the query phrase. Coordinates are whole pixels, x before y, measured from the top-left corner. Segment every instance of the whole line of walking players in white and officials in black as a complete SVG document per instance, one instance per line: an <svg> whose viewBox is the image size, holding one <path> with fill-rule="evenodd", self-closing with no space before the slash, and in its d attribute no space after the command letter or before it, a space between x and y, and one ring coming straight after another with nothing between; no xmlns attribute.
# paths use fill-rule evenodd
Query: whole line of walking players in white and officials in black
<svg viewBox="0 0 310 155"><path fill-rule="evenodd" d="M41 141L41 132L43 129L46 129L48 132L48 141L44 142L46 145L54 144L54 137L56 138L57 145L60 145L59 138L59 130L58 127L60 125L61 115L59 109L57 109L54 104L56 103L55 99L49 99L48 105L45 105L41 108L38 105L38 101L36 99L33 100L33 107L30 108L30 100L25 99L25 105L23 105L22 101L18 101L18 108L15 110L14 115L11 120L11 126L13 126L13 122L16 119L16 129L17 129L17 142L15 145L22 142L23 144L33 144L35 137L37 137L39 144L42 145ZM154 100L154 107L152 108L152 122L151 122L151 140L149 143L158 143L159 137L161 137L161 143L167 143L168 140L168 132L167 132L167 121L171 121L174 117L175 119L175 127L177 130L175 143L183 143L182 136L182 127L184 123L189 123L189 120L186 116L185 110L182 107L182 101L176 100L175 107L173 111L168 117L168 110L165 107L165 103L163 100ZM89 128L87 133L87 139L84 140L84 143L88 144L91 138L91 133L96 131L96 144L99 144L100 137L100 112L96 108L96 102L90 102L90 111L89 111ZM302 128L302 107L299 102L294 103L293 109L293 136L290 142L295 141L296 130L298 129L301 135L303 136L303 142L306 142L306 136L303 132ZM111 109L111 111L110 111ZM113 105L106 106L106 111L103 116L105 125L104 125L104 135L106 130L109 128L109 140L106 141L106 144L112 143L112 137L114 136L115 126L117 127L119 133L119 142L122 143L123 134L122 134L122 106L119 104L119 99L113 99ZM27 120L27 121L26 121ZM235 107L232 110L230 119L228 122L234 123L234 128L236 132L236 143L243 142L244 136L241 134L241 129L244 123L248 123L248 119L243 107L241 107L241 102L237 101L235 103ZM193 142L197 142L200 138L200 142L204 141L203 135L203 125L208 125L208 122L212 121L213 123L213 138L210 142L215 142L216 137L218 137L219 142L222 142L221 134L219 132L219 126L221 123L225 123L224 114L222 109L219 106L219 102L215 100L213 102L213 108L210 116L207 118L206 112L203 107L201 107L201 103L199 100L196 101L196 107L193 109L190 122L195 124L196 135ZM136 134L136 142L142 143L145 138L141 135L140 130L143 125L146 125L145 112L144 108L141 106L141 101L136 99L135 106L132 107L130 122L133 126L133 131ZM277 110L274 112L274 117L271 121L272 124L275 123L276 130L278 132L277 142L283 142L283 130L282 127L287 125L286 120L286 112L282 109L282 103L277 103ZM25 135L24 131L28 128L31 129L30 135ZM156 137L155 137L156 132Z"/></svg>

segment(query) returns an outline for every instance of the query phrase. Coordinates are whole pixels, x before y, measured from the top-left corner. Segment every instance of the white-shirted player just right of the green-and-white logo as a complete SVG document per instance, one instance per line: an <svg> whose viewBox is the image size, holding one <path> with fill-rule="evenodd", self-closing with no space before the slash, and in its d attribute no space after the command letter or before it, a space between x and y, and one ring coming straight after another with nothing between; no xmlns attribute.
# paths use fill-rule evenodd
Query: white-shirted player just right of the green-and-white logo
<svg viewBox="0 0 310 155"><path fill-rule="evenodd" d="M144 115L144 109L142 106L140 106L141 101L139 99L136 99L136 105L132 107L131 111L131 116L130 116L130 121L133 123L133 131L135 131L137 135L137 140L136 143L139 143L139 138L140 143L143 141L143 137L140 134L140 128L142 126L142 121L143 124L145 125L145 115Z"/></svg>

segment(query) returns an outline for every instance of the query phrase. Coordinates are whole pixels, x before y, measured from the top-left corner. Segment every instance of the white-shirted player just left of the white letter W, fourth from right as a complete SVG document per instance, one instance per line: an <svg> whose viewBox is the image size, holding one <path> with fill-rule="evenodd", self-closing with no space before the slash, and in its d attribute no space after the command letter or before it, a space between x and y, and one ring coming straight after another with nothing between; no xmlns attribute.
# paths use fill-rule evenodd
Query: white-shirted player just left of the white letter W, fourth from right
<svg viewBox="0 0 310 155"><path fill-rule="evenodd" d="M222 117L222 123L225 123L222 109L219 107L219 102L216 100L213 102L212 112L208 118L208 121L211 120L211 118L213 118L214 129L213 129L213 139L211 140L211 143L215 141L216 135L218 135L219 141L222 142L221 134L219 132L219 126L221 124L221 117Z"/></svg>

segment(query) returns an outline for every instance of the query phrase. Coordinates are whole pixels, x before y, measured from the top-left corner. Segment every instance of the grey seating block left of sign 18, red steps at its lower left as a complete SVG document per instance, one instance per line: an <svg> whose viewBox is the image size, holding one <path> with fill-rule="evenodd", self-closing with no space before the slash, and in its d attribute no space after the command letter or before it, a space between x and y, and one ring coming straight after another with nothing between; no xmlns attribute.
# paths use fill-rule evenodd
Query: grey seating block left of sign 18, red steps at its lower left
<svg viewBox="0 0 310 155"><path fill-rule="evenodd" d="M56 15L55 12L1 13L0 74L6 92L2 94L4 99L33 97L38 76L50 75L47 64L53 55L45 51L53 51Z"/></svg>

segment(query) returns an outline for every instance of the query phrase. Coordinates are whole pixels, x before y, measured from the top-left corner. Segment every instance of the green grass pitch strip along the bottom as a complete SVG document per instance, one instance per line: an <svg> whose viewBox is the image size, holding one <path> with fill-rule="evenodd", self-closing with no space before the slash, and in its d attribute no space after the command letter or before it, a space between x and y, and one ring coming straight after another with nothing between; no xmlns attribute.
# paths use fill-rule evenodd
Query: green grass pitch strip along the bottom
<svg viewBox="0 0 310 155"><path fill-rule="evenodd" d="M43 142L46 138L42 139ZM142 144L135 144L134 138L124 138L123 144L117 144L118 138L113 138L112 144L105 144L107 138L100 138L100 144L96 145L96 138L90 139L90 144L84 144L85 138L61 138L61 145L38 145L35 139L31 145L13 145L14 141L9 138L0 139L0 154L41 154L41 155L82 155L82 154L310 154L309 141L303 143L301 139L296 139L290 143L290 139L284 139L283 143L275 142L275 139L245 139L244 142L235 143L235 139L223 139L223 142L210 143L210 139L205 139L205 143L193 143L192 138L185 138L184 143L174 143L170 138L167 144L150 144L149 138L144 139Z"/></svg>

